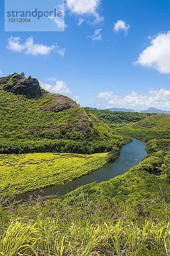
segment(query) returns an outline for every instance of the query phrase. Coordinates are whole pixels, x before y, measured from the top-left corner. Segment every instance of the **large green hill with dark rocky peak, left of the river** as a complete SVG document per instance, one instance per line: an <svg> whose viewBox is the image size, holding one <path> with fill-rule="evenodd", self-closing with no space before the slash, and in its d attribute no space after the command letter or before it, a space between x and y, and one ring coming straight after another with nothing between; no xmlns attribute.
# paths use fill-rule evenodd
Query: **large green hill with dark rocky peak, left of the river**
<svg viewBox="0 0 170 256"><path fill-rule="evenodd" d="M95 153L121 140L69 97L42 89L37 79L0 79L0 153Z"/></svg>

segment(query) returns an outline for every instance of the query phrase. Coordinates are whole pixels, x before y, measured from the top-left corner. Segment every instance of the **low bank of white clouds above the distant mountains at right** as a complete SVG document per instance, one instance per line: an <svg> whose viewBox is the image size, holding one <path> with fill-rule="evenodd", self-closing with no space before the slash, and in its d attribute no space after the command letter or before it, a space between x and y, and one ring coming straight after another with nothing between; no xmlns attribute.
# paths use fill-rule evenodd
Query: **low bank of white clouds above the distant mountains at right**
<svg viewBox="0 0 170 256"><path fill-rule="evenodd" d="M107 100L110 106L170 108L170 90L150 90L148 95L136 91L126 96L115 95L112 91L101 92L97 96Z"/></svg>

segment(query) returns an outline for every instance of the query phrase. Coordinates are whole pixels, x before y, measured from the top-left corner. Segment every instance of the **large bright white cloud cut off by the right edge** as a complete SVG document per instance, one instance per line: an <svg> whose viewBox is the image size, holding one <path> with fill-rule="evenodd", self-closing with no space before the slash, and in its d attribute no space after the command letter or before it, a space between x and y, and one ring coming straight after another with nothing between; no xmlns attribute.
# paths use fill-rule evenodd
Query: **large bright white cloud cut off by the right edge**
<svg viewBox="0 0 170 256"><path fill-rule="evenodd" d="M170 73L170 30L153 38L134 64L153 67L162 74Z"/></svg>

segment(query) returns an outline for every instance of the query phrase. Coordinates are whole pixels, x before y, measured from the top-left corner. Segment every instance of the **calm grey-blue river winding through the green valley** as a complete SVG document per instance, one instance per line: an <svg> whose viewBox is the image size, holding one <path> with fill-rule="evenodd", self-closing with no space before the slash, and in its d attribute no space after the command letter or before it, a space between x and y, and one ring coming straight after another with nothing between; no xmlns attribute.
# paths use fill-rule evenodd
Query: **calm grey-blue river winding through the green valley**
<svg viewBox="0 0 170 256"><path fill-rule="evenodd" d="M102 168L92 172L89 175L84 175L72 182L66 183L62 186L51 186L49 188L43 189L44 196L48 195L64 195L67 192L70 192L74 189L77 189L78 186L83 186L94 181L100 183L112 179L118 175L122 175L127 172L132 166L138 165L141 162L143 157L147 155L145 151L146 143L141 140L136 140L132 138L133 141L124 145L121 148L121 153L115 161L107 163ZM39 191L37 191L39 193ZM28 199L30 192L18 196L18 199Z"/></svg>

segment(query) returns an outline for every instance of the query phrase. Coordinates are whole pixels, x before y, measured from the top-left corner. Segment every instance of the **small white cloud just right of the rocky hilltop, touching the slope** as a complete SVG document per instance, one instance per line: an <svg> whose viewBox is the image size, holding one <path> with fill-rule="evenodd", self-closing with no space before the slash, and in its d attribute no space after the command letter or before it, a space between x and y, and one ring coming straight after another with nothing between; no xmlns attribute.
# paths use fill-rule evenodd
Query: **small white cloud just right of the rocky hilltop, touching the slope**
<svg viewBox="0 0 170 256"><path fill-rule="evenodd" d="M50 90L53 93L71 93L71 90L69 89L67 84L61 80L56 81L55 85L46 84L40 81L40 85L45 90Z"/></svg>

